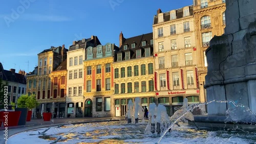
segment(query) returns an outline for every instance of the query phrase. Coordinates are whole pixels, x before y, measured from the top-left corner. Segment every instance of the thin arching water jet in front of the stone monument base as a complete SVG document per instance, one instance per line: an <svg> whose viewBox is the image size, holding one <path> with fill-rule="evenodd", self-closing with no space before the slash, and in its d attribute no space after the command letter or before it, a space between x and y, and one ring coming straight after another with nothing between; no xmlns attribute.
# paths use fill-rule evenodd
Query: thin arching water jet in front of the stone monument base
<svg viewBox="0 0 256 144"><path fill-rule="evenodd" d="M176 124L181 118L183 118L187 113L189 112L193 112L193 110L196 108L196 107L199 107L199 106L203 106L203 105L208 105L210 103L213 103L213 102L216 102L216 103L231 103L233 104L235 107L239 107L239 108L244 108L242 111L243 112L247 112L247 114L251 115L251 117L256 117L256 114L253 113L249 107L246 107L244 106L243 104L236 104L233 100L212 100L212 101L209 101L209 102L205 102L205 103L200 103L200 104L196 104L196 105L191 105L191 106L188 106L186 107L186 111L183 111L182 113L180 113L180 116L178 118L175 119L175 121L173 121L173 123L164 131L164 133L161 135L161 137L159 138L157 144L162 140L162 138L164 137L164 135L168 132L169 129L171 129L174 124ZM183 107L184 107L184 104L183 104ZM183 108L184 109L184 108ZM177 112L177 111L176 111ZM176 113L175 112L175 113ZM175 115L174 113L174 115ZM256 122L256 119L254 119L253 122Z"/></svg>

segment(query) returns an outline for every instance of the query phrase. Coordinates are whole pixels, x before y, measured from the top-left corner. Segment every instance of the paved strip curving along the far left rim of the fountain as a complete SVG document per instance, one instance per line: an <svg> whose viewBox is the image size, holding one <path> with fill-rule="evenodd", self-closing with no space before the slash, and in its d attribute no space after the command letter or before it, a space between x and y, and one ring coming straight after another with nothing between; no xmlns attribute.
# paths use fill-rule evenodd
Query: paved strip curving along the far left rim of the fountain
<svg viewBox="0 0 256 144"><path fill-rule="evenodd" d="M31 119L30 122L26 122L26 125L23 126L14 126L14 127L8 127L8 137L11 137L14 134L32 130L32 129L38 129L38 128L44 128L44 127L51 127L56 126L60 124L67 124L67 123L92 123L92 122L105 122L105 121L120 121L123 120L124 117L81 117L81 118L53 118L53 123L51 121L45 122L43 119ZM4 144L4 127L2 124L2 127L0 127L0 143ZM8 140L7 140L8 143ZM8 143L9 144L9 143Z"/></svg>

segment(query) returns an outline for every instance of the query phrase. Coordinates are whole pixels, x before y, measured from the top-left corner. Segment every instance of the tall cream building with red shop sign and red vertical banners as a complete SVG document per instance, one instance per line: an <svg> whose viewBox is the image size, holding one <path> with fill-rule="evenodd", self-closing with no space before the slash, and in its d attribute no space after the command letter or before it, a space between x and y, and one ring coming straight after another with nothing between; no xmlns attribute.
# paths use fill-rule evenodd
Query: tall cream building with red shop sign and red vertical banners
<svg viewBox="0 0 256 144"><path fill-rule="evenodd" d="M187 98L200 101L193 6L154 16L155 87L158 104L172 115Z"/></svg>

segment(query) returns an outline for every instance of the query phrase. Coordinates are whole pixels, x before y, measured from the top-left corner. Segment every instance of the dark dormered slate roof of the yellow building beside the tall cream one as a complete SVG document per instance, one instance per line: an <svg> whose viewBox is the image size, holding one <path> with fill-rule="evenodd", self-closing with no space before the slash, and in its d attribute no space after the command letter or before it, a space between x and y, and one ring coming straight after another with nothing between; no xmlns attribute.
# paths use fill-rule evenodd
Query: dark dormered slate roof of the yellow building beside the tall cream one
<svg viewBox="0 0 256 144"><path fill-rule="evenodd" d="M136 50L141 49L141 58L145 57L144 49L147 47L151 48L151 56L153 56L154 46L151 44L151 40L153 39L153 33L142 34L139 36L126 38L123 44L120 46L120 50L115 54L114 61L117 61L117 54L122 53L122 61L125 60L125 52L130 51L130 60L136 59ZM146 41L146 45L142 46L142 41ZM135 48L132 49L132 43L135 43ZM127 45L127 50L123 50L124 45Z"/></svg>

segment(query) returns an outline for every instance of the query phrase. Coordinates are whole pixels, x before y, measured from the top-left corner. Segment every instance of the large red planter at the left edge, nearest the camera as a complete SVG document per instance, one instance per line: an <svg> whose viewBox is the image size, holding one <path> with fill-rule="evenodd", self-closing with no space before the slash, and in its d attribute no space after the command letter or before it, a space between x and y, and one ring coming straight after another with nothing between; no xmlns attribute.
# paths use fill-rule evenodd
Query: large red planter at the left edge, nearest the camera
<svg viewBox="0 0 256 144"><path fill-rule="evenodd" d="M0 121L3 122L3 126L5 124L4 122L6 121L6 117L4 117L6 114L8 114L7 127L18 126L19 117L22 112L21 111L6 111L8 113L4 113L4 112L5 111L0 112Z"/></svg>

